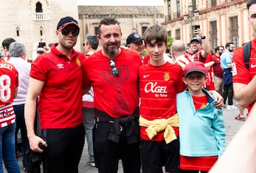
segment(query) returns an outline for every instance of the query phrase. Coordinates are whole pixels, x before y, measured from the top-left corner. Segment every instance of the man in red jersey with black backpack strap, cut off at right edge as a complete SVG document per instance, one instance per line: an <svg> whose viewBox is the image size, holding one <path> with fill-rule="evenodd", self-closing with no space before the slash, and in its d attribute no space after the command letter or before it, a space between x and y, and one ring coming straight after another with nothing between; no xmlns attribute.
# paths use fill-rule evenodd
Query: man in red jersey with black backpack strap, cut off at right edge
<svg viewBox="0 0 256 173"><path fill-rule="evenodd" d="M248 20L256 33L256 1L247 1ZM256 39L251 42L249 70L245 67L242 47L235 49L233 54L233 90L238 104L247 107L248 112L256 101Z"/></svg>

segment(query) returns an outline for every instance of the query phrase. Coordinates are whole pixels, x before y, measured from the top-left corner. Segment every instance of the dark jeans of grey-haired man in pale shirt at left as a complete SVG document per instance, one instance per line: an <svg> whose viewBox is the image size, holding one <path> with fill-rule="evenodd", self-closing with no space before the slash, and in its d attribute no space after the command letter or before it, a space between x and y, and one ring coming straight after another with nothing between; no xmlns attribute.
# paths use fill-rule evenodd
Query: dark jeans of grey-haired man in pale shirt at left
<svg viewBox="0 0 256 173"><path fill-rule="evenodd" d="M16 130L15 130L16 155L17 155L17 134L18 134L18 130L21 130L22 164L23 164L23 167L26 167L26 150L28 149L28 137L27 137L26 124L24 119L24 104L14 105L14 112L16 115Z"/></svg>

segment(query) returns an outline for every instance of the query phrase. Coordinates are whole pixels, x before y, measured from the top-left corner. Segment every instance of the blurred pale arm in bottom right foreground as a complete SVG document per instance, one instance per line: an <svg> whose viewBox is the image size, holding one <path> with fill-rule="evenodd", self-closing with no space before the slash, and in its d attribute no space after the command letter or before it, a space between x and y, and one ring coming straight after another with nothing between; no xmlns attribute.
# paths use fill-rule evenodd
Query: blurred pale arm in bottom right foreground
<svg viewBox="0 0 256 173"><path fill-rule="evenodd" d="M209 173L218 172L256 172L256 105L252 107L250 116L242 125L233 140L229 143L220 160Z"/></svg>

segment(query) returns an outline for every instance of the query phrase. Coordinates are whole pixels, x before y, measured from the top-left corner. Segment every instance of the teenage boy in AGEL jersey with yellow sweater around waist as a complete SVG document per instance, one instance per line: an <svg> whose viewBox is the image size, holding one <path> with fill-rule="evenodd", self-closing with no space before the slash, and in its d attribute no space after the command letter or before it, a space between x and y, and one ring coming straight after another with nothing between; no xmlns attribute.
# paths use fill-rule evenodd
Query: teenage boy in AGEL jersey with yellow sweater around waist
<svg viewBox="0 0 256 173"><path fill-rule="evenodd" d="M182 69L164 59L167 33L158 25L147 28L144 42L148 64L139 68L139 125L142 172L180 172L176 94L184 91Z"/></svg>

